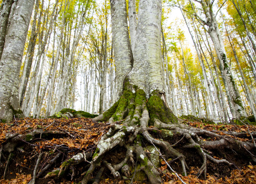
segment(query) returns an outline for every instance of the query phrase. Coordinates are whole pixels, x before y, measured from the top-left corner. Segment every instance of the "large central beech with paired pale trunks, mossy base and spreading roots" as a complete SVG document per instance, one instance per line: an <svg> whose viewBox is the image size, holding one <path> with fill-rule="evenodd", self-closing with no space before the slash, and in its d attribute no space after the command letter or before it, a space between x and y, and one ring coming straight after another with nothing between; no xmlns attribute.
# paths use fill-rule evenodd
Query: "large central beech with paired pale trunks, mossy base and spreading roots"
<svg viewBox="0 0 256 184"><path fill-rule="evenodd" d="M165 157L162 156L164 161L169 157L179 159L182 171L187 176L188 166L184 154L168 141L155 139L156 134L149 128L150 125L154 125L155 131L161 129L161 132L167 135L182 135L185 144L183 149L191 151L196 148L197 154L203 160L198 175L203 173L206 177L207 159L215 164L232 165L225 159L214 159L210 154L205 153L205 149L217 149L220 146L229 145L229 148L241 152L241 146L238 146L241 144L238 143L239 141L225 138L220 138L220 141L202 141L199 136L216 136L216 134L185 126L179 118L174 116L166 103L161 68L161 0L140 0L133 49L131 49L132 44L128 34L126 1L110 0L110 5L116 75L120 93L118 101L110 109L94 118L95 121L108 121L110 130L98 142L82 184L89 181L92 172L101 160L115 177L120 176L119 170L128 176L131 172L127 165L128 160L135 164L133 153L136 154L137 164L146 173L148 180L152 184L161 183L160 173L154 166L154 161L149 159L144 151L148 149L145 148L147 145L154 145L154 154L162 156L161 152L164 152ZM118 122L123 124L119 125ZM123 161L119 164L104 161L104 156L115 146L126 148L127 152ZM253 144L246 142L246 149L248 151L253 149ZM248 151L242 152L255 160L255 157ZM79 162L84 160L85 156L78 154L75 158L76 162ZM67 165L63 167L66 169ZM170 166L169 168L172 170ZM102 173L102 170L99 173Z"/></svg>

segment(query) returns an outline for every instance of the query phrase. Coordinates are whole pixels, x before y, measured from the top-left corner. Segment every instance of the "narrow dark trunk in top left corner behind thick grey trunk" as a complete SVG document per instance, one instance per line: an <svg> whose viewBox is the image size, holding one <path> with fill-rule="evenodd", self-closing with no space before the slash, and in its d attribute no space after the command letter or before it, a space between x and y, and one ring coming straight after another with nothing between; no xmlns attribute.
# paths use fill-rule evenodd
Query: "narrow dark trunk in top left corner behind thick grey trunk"
<svg viewBox="0 0 256 184"><path fill-rule="evenodd" d="M5 37L8 29L8 20L13 5L13 0L3 0L0 7L0 59L5 45Z"/></svg>

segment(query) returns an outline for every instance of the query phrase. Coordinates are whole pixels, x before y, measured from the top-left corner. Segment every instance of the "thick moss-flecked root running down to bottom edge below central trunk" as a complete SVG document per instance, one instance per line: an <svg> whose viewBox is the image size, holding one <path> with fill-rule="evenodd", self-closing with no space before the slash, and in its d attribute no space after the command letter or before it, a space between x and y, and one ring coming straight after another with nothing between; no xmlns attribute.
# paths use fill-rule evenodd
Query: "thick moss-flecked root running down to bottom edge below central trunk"
<svg viewBox="0 0 256 184"><path fill-rule="evenodd" d="M151 184L160 184L160 173L156 170L154 164L148 159L145 151L140 145L135 146L136 158L141 163L141 169L146 173Z"/></svg>

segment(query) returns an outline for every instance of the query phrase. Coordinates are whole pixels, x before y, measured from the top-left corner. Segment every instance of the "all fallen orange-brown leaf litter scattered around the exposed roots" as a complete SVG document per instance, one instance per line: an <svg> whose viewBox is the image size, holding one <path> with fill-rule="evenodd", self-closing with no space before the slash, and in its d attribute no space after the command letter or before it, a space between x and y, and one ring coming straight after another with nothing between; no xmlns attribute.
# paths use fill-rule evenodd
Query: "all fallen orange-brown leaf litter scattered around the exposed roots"
<svg viewBox="0 0 256 184"><path fill-rule="evenodd" d="M184 121L188 126L192 126L199 129L204 129L207 131L214 131L215 134L230 136L234 139L240 141L248 141L250 135L246 134L246 138L236 137L233 135L228 135L223 132L233 131L233 132L248 132L256 131L256 126L238 126L229 124L202 124L202 122L191 122ZM67 158L72 155L77 154L78 151L95 151L97 142L103 134L105 134L109 125L106 122L95 122L90 118L62 118L62 119L33 119L33 118L21 118L15 119L10 124L0 123L0 146L6 143L8 140L6 138L14 134L28 134L35 129L42 129L44 131L56 131L64 132L65 135L61 136L48 136L47 138L37 138L33 140L33 146L35 153L39 153L40 150L49 150L49 155L54 147L60 146L68 149ZM50 138L50 139L49 139ZM202 138L204 139L204 138ZM208 138L216 139L216 138ZM29 143L32 144L32 143ZM49 156L48 155L48 156ZM33 157L33 156L31 156ZM23 161L16 163L15 166L20 166L24 168L33 168L29 159L24 156ZM215 159L218 157L214 156ZM0 163L2 164L2 163ZM3 164L2 164L3 165ZM12 169L10 169L12 170ZM181 184L182 182L177 178L177 176L168 170L166 163L161 162L159 167L161 170L162 179L164 184ZM190 167L188 176L179 176L188 184L255 184L256 183L256 166L255 165L245 165L241 169L234 169L230 172L230 176L217 177L215 175L207 174L207 179L203 180L197 178L198 167ZM27 173L10 173L9 179L0 178L1 184L27 184L32 179L31 174ZM49 184L54 183L54 180L48 181ZM125 180L106 178L100 181L100 184L125 184ZM146 184L147 181L133 181L133 184ZM61 181L61 184L74 184L74 181Z"/></svg>

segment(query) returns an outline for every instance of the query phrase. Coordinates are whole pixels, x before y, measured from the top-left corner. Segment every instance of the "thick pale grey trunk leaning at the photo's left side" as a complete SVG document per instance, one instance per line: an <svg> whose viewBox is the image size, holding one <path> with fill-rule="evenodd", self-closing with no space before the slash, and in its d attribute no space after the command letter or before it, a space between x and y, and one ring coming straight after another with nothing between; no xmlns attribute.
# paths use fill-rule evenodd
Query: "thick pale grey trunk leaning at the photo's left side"
<svg viewBox="0 0 256 184"><path fill-rule="evenodd" d="M11 121L22 115L18 97L18 83L24 45L33 11L34 0L19 0L10 23L0 60L0 119Z"/></svg>

